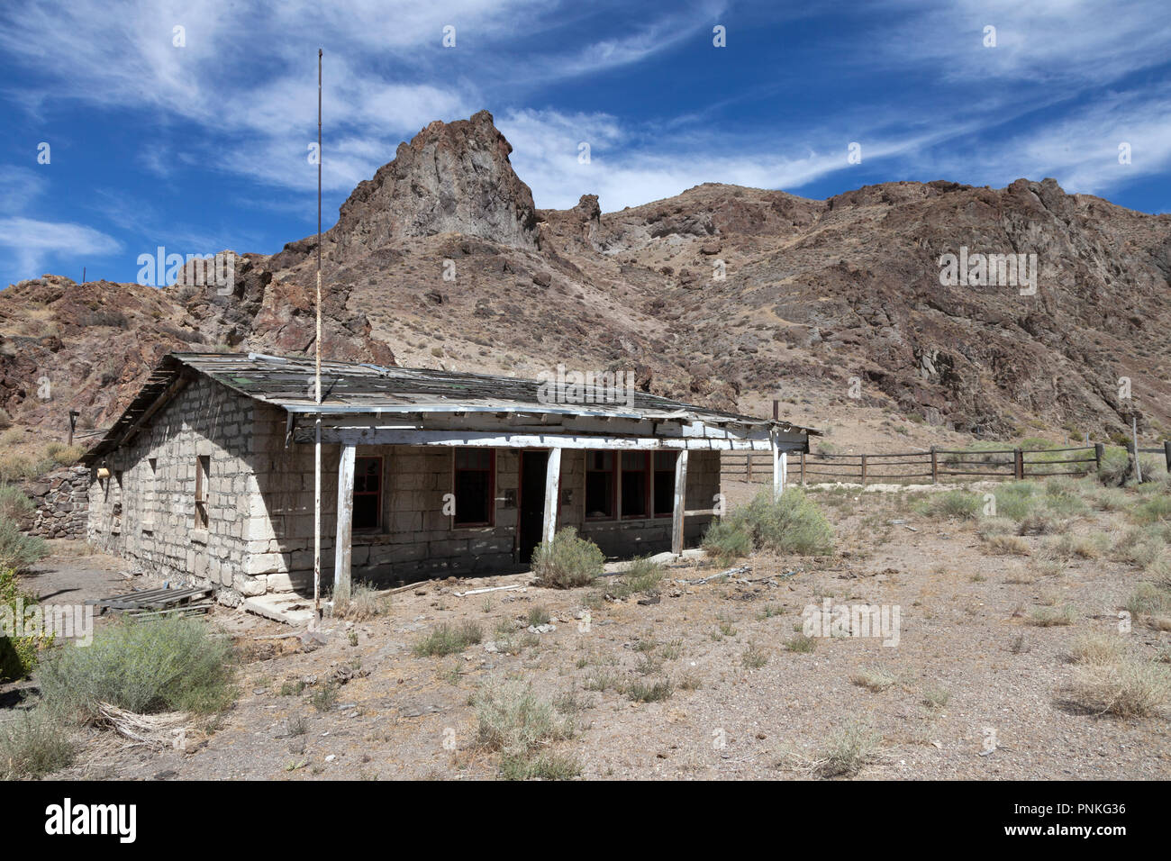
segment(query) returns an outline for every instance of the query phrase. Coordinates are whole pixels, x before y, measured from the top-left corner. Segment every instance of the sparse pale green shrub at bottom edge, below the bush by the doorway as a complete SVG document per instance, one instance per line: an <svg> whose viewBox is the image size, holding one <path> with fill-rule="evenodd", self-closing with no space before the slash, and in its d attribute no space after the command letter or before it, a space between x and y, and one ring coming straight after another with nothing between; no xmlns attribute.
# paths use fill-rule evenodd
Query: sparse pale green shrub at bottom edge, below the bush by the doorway
<svg viewBox="0 0 1171 861"><path fill-rule="evenodd" d="M543 752L554 742L573 738L574 723L520 681L485 684L473 697L478 739L500 751L500 775L512 780L569 778L581 768L571 759Z"/></svg>

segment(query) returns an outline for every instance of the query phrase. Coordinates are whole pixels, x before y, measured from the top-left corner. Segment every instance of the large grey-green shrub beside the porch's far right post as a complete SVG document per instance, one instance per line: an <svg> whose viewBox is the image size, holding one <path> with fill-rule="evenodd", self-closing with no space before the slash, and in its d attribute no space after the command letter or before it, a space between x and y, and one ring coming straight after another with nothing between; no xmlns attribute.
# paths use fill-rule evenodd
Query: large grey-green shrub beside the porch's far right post
<svg viewBox="0 0 1171 861"><path fill-rule="evenodd" d="M708 528L708 534L713 527ZM742 539L730 538L728 531L732 531L744 533L753 549L801 555L828 555L834 552L834 528L800 487L788 488L775 500L772 491L759 493L748 505L737 508L720 521L719 529L712 542L717 548L745 545ZM708 546L706 537L704 545Z"/></svg>

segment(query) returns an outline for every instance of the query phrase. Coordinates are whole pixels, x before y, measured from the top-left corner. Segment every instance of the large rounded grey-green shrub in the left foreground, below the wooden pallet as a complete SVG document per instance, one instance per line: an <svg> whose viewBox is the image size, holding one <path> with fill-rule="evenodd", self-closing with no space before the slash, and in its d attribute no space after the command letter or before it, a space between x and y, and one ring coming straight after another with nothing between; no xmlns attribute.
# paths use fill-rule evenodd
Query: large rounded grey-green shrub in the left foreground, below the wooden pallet
<svg viewBox="0 0 1171 861"><path fill-rule="evenodd" d="M44 699L93 720L109 703L138 713L212 713L232 704L235 655L227 637L183 616L123 619L87 648L60 649L41 671Z"/></svg>

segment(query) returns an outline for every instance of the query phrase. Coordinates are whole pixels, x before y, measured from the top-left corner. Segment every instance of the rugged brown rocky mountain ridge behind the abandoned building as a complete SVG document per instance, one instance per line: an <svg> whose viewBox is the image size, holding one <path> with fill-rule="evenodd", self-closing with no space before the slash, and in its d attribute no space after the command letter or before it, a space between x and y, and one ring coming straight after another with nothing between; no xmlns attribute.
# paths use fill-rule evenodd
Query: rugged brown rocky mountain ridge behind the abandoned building
<svg viewBox="0 0 1171 861"><path fill-rule="evenodd" d="M1171 428L1171 216L1053 179L828 200L704 184L619 212L593 194L537 210L511 151L487 111L434 122L355 189L322 238L327 356L632 369L713 406L781 398L814 426L875 410L939 433L1110 433L1137 409L1148 433ZM69 408L103 425L167 350L311 350L315 258L315 235L237 257L230 295L14 285L0 408L26 426Z"/></svg>

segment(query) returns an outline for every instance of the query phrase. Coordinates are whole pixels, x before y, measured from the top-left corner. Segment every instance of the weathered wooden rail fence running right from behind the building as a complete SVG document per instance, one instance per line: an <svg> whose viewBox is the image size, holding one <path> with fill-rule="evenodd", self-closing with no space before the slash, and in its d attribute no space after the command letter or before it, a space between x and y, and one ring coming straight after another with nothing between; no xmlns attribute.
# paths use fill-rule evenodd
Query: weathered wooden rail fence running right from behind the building
<svg viewBox="0 0 1171 861"><path fill-rule="evenodd" d="M1070 449L992 449L985 451L937 449L903 453L789 455L789 481L821 484L847 481L893 483L1025 479L1043 476L1084 476L1102 465L1102 443ZM1162 449L1139 449L1141 453L1162 453L1171 472L1171 440ZM769 452L725 452L723 476L744 481L772 481Z"/></svg>

